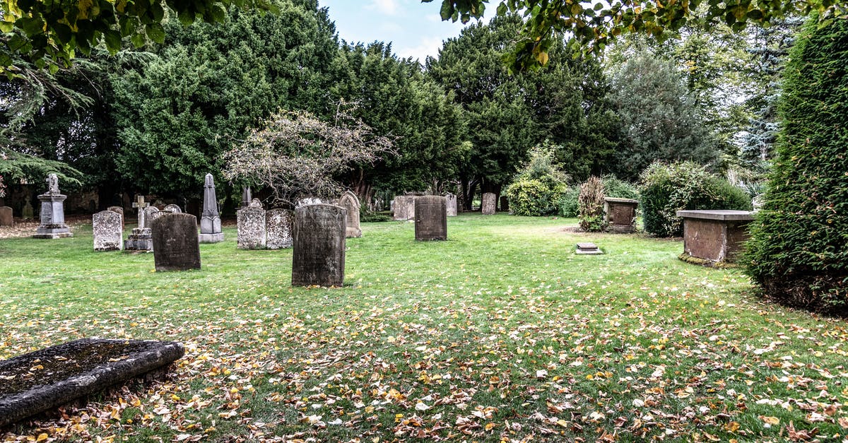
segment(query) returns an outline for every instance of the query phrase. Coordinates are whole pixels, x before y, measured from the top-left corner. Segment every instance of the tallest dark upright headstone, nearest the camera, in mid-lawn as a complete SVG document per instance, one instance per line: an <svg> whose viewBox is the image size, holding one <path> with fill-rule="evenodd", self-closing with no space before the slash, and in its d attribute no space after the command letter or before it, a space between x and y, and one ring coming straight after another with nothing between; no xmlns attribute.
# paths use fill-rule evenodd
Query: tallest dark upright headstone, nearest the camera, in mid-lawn
<svg viewBox="0 0 848 443"><path fill-rule="evenodd" d="M293 286L342 286L346 212L336 205L294 210Z"/></svg>

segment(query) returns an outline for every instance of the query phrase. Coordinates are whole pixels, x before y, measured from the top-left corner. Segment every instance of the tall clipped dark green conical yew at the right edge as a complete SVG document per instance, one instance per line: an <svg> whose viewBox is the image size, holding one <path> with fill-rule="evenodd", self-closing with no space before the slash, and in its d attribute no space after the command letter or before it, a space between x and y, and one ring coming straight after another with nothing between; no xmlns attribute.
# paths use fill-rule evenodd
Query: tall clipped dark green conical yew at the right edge
<svg viewBox="0 0 848 443"><path fill-rule="evenodd" d="M848 21L801 31L784 69L777 157L745 265L763 294L848 315Z"/></svg>

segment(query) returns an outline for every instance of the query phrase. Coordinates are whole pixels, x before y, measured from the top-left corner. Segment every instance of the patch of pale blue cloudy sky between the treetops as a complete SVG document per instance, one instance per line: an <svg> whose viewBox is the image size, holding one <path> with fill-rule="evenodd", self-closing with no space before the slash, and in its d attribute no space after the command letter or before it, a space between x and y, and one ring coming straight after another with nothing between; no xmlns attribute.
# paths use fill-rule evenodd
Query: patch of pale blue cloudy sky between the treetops
<svg viewBox="0 0 848 443"><path fill-rule="evenodd" d="M318 0L329 8L339 38L347 42L391 42L399 57L421 64L427 55L438 56L442 41L460 35L460 22L442 21L441 0ZM470 23L473 23L472 20Z"/></svg>

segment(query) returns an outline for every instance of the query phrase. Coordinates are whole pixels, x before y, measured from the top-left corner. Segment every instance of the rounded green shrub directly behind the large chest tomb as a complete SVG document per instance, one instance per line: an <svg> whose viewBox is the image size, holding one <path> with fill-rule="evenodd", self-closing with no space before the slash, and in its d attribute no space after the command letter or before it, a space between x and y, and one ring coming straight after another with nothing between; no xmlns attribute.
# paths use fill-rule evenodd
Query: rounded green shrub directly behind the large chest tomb
<svg viewBox="0 0 848 443"><path fill-rule="evenodd" d="M727 180L691 161L655 162L642 171L644 230L657 237L683 235L678 210L750 210L750 197Z"/></svg>

